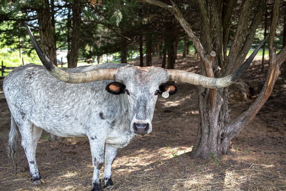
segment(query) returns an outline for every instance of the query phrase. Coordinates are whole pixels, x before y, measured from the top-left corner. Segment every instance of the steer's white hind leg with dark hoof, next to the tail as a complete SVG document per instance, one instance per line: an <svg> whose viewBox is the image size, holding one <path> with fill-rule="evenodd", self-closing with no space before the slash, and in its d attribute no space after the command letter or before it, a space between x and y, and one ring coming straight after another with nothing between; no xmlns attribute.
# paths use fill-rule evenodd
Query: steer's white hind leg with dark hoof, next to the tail
<svg viewBox="0 0 286 191"><path fill-rule="evenodd" d="M25 123L21 123L21 125L19 125L19 130L22 136L21 145L23 146L28 159L33 184L44 184L45 182L41 178L35 157L37 144L43 129L33 125L33 123L30 121L26 121Z"/></svg>

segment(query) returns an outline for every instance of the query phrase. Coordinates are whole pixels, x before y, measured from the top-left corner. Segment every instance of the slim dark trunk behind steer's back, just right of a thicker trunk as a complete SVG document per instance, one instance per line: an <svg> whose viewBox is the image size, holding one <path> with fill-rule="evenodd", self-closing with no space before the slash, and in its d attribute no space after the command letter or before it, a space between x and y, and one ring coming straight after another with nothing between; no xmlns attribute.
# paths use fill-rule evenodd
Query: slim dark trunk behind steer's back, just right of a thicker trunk
<svg viewBox="0 0 286 191"><path fill-rule="evenodd" d="M67 56L67 67L75 68L78 64L78 50L80 48L81 7L80 1L74 0L72 13L72 44Z"/></svg>

